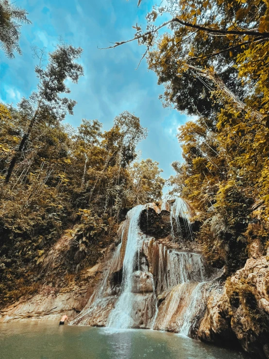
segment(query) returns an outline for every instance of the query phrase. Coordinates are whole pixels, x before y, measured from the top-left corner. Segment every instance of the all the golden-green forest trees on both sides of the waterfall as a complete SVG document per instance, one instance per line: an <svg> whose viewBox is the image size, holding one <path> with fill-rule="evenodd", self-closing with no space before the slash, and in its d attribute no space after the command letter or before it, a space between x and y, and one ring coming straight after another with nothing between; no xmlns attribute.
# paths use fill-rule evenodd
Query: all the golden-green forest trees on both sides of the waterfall
<svg viewBox="0 0 269 359"><path fill-rule="evenodd" d="M19 52L12 23L29 20L8 6L0 1L9 14L0 40L12 57ZM253 244L263 254L269 247L269 2L168 0L146 17L145 31L136 24L133 39L110 48L138 40L164 85L163 105L196 117L179 128L184 161L172 163L167 183L195 209L194 240L227 278ZM157 162L137 160L147 130L134 114L119 114L109 131L98 120L83 119L77 129L62 123L76 104L63 94L70 93L67 79L83 75L82 49L60 43L47 59L35 54L37 90L17 106L0 104L3 304L44 283L39 264L66 230L73 240L65 264L46 281L61 285L96 263L127 209L160 200L165 184ZM242 303L253 294L244 281L228 292Z"/></svg>

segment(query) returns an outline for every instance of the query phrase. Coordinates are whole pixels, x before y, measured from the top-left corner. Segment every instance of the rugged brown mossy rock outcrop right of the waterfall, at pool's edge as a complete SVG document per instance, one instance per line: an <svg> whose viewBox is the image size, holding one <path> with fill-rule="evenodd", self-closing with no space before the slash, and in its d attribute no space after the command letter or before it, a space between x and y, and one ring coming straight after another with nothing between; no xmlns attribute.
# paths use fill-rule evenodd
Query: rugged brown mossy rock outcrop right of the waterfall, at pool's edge
<svg viewBox="0 0 269 359"><path fill-rule="evenodd" d="M239 343L256 358L269 358L269 257L247 260L224 286L213 289L197 336Z"/></svg>

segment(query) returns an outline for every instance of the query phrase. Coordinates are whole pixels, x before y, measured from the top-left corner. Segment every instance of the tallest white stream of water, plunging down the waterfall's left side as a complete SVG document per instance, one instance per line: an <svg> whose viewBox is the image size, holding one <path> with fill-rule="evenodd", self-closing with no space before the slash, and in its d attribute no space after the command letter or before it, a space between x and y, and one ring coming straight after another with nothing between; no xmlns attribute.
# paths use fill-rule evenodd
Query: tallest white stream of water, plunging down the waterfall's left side
<svg viewBox="0 0 269 359"><path fill-rule="evenodd" d="M139 219L141 211L145 209L143 205L137 205L127 213L127 221L129 220L129 227L127 234L127 243L125 255L123 260L123 276L121 284L121 295L108 317L108 327L114 328L129 328L132 326L131 312L134 301L133 287L133 272L135 268L135 256L138 254L141 247L141 240L139 237ZM139 263L138 263L139 266Z"/></svg>

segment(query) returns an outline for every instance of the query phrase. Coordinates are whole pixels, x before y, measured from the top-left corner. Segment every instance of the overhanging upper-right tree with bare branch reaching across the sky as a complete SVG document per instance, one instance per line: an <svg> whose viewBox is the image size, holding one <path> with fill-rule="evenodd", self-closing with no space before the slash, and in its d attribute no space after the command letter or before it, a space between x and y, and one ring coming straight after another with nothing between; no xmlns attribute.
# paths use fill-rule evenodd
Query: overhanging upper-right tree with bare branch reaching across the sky
<svg viewBox="0 0 269 359"><path fill-rule="evenodd" d="M163 14L171 18L155 25ZM252 76L249 80L247 71L244 77L250 84L242 91L237 74L240 67L244 71L248 60L259 63L255 63L255 68L265 64L269 46L266 1L252 0L247 4L236 0L229 3L226 0L168 0L165 6L153 6L146 17L145 31L136 24L133 39L116 42L109 48L134 40L138 40L139 45L146 45L143 57L149 53L149 67L156 71L159 83L166 85L166 103L196 114L207 109L208 115L212 111L208 107L214 110L216 106L211 103L214 103L214 96L218 96L217 111L221 104L231 100L237 110L251 112L257 120L263 120L266 112L242 101L246 90L248 95L253 94L262 75L257 71L256 79ZM159 30L164 27L169 27L169 32L161 35ZM235 58L237 68L234 67ZM248 67L253 69L250 63ZM208 98L212 90L214 96L210 103Z"/></svg>

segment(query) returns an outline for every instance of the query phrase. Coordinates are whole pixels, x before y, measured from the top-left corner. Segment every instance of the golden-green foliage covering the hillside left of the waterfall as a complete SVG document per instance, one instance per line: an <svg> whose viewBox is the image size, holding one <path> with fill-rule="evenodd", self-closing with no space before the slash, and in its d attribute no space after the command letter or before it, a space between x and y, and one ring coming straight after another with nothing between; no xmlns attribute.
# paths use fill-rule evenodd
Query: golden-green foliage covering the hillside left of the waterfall
<svg viewBox="0 0 269 359"><path fill-rule="evenodd" d="M158 198L164 183L156 162L148 159L132 165L135 145L146 136L146 129L133 114L125 111L110 130L102 131L98 120L84 119L77 129L71 129L55 120L53 111L51 118L48 111L44 117L39 114L13 175L4 184L10 160L27 128L24 114L21 107L0 104L3 305L17 300L20 293L34 293L47 281L59 283L59 277L79 276L85 266L94 265L115 237L121 212L137 204L133 195L136 180L147 182L139 189L141 201ZM140 169L135 179L134 168ZM70 242L59 258L61 265L51 273L55 243L73 226ZM51 250L54 253L47 257ZM43 263L47 263L46 270Z"/></svg>

